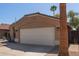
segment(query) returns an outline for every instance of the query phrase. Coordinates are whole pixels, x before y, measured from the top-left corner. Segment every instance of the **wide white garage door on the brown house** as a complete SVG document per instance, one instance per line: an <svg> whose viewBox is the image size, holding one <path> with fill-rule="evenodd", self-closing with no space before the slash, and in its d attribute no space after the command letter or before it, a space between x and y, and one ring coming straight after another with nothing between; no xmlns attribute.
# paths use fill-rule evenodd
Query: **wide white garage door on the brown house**
<svg viewBox="0 0 79 59"><path fill-rule="evenodd" d="M20 30L20 42L24 44L53 46L55 42L55 28L31 28Z"/></svg>

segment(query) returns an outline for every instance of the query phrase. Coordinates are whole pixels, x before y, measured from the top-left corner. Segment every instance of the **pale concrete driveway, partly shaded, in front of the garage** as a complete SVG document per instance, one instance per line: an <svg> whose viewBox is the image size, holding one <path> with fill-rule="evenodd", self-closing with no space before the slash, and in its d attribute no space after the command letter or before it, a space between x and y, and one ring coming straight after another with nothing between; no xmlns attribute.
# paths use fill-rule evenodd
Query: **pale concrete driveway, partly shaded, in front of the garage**
<svg viewBox="0 0 79 59"><path fill-rule="evenodd" d="M35 46L0 40L1 56L57 56L58 46Z"/></svg>

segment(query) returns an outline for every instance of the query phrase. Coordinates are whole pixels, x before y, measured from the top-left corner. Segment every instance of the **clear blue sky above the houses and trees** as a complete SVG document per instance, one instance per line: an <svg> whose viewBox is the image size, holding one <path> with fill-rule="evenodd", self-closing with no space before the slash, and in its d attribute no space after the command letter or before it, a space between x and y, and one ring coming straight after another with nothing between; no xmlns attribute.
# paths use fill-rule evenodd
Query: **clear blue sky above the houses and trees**
<svg viewBox="0 0 79 59"><path fill-rule="evenodd" d="M0 23L12 24L27 14L40 12L53 16L50 11L52 5L57 6L55 14L59 14L59 3L0 3ZM79 12L79 4L66 4L67 12L73 10Z"/></svg>

